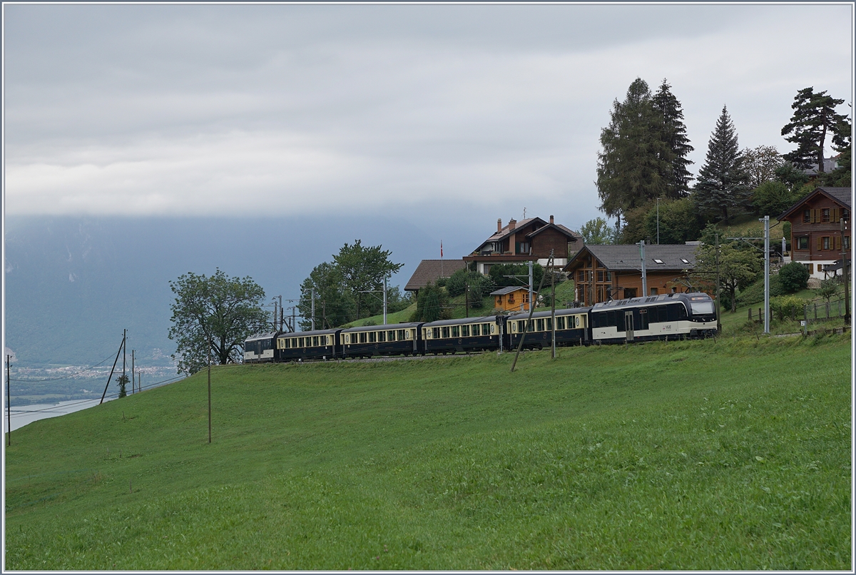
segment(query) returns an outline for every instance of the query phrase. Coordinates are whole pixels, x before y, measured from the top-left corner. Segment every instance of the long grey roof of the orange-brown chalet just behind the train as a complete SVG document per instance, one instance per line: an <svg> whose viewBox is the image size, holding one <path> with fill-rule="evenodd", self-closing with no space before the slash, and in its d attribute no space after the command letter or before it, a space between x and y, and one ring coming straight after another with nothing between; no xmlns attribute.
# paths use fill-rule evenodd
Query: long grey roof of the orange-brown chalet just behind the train
<svg viewBox="0 0 856 575"><path fill-rule="evenodd" d="M697 245L662 244L645 246L645 271L692 270L695 267ZM642 261L639 258L639 246L636 244L620 246L584 246L571 258L565 270L576 267L584 254L590 252L604 268L610 271L640 271Z"/></svg>

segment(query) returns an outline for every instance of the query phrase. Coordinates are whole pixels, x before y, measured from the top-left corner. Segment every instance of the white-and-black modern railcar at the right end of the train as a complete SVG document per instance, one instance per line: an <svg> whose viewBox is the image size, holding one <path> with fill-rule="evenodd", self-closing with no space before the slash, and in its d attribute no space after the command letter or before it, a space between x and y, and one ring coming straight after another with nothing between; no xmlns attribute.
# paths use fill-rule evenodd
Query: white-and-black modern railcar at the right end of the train
<svg viewBox="0 0 856 575"><path fill-rule="evenodd" d="M716 307L707 293L663 293L595 304L591 341L622 343L716 335Z"/></svg>

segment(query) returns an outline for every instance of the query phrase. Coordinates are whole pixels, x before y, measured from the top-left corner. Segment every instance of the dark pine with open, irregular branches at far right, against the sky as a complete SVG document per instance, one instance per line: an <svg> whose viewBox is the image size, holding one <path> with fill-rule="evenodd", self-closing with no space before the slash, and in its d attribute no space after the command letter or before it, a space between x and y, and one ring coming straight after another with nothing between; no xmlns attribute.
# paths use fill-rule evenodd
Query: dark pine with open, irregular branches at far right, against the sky
<svg viewBox="0 0 856 575"><path fill-rule="evenodd" d="M817 164L817 173L822 174L823 145L827 133L836 136L834 141L841 147L849 147L844 144L850 137L850 122L847 116L835 113L835 106L843 103L844 100L828 96L825 90L815 93L814 86L797 92L794 104L791 104L794 116L782 127L782 136L793 134L786 139L796 144L797 149L785 154L784 158L802 169Z"/></svg>

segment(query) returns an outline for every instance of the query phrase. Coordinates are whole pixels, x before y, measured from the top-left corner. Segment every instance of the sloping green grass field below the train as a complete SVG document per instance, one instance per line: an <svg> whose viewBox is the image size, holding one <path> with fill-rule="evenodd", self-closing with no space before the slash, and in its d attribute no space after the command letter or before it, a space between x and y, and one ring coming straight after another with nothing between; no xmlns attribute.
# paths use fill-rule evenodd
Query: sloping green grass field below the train
<svg viewBox="0 0 856 575"><path fill-rule="evenodd" d="M13 433L7 569L840 569L849 335L244 365Z"/></svg>

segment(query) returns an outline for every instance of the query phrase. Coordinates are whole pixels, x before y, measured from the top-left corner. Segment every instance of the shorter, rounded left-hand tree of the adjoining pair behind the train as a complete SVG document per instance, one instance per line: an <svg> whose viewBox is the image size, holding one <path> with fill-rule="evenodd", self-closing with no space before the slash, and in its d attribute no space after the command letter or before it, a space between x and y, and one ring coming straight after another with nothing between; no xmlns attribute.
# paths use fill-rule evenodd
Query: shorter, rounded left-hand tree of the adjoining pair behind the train
<svg viewBox="0 0 856 575"><path fill-rule="evenodd" d="M342 287L338 266L324 262L316 265L300 283L300 329L312 329L312 289L315 290L315 327L324 329L353 321L355 303Z"/></svg>

